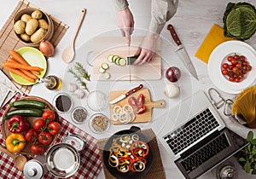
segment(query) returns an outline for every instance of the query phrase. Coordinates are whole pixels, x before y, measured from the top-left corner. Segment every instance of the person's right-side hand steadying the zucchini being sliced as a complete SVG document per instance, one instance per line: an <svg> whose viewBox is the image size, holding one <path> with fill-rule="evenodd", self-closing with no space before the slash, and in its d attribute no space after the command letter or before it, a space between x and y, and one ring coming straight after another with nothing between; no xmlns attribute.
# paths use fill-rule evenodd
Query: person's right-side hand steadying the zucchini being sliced
<svg viewBox="0 0 256 179"><path fill-rule="evenodd" d="M139 55L139 57L137 61L134 61L134 65L143 65L146 62L152 61L158 37L158 34L148 33L143 39L143 43L141 43L140 47L137 49L135 55Z"/></svg>

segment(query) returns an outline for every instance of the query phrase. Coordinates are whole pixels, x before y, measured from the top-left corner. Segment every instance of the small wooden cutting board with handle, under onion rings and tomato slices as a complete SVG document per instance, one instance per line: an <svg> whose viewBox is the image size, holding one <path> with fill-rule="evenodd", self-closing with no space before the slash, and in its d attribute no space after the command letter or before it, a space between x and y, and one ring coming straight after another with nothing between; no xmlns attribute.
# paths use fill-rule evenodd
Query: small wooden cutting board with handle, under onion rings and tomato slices
<svg viewBox="0 0 256 179"><path fill-rule="evenodd" d="M115 99L116 97L118 97L119 95L125 94L128 90L117 90L117 91L110 91L109 93L109 101L112 101L113 99ZM152 108L153 107L165 107L166 103L164 100L159 100L159 101L151 101L151 97L150 97L150 93L148 89L142 89L142 90L137 90L135 93L129 95L128 97L126 97L125 99L123 99L122 101L119 101L115 104L109 105L109 111L110 111L110 116L109 118L111 119L111 123L112 124L122 124L119 121L113 121L113 108L116 106L119 107L124 107L125 105L128 104L128 99L131 96L134 96L135 98L137 98L138 95L143 94L144 95L144 106L147 108L147 111L145 113L142 114L136 114L136 118L133 122L131 123L146 123L149 122L151 120L152 117Z"/></svg>

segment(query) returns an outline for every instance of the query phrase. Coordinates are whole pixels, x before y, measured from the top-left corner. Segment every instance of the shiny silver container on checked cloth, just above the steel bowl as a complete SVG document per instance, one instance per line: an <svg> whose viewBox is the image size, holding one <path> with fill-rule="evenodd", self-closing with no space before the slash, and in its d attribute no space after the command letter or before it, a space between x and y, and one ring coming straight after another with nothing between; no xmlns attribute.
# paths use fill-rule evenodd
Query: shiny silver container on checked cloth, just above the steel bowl
<svg viewBox="0 0 256 179"><path fill-rule="evenodd" d="M63 136L61 142L72 145L78 152L84 150L86 145L86 141L82 136L70 132L68 132L66 136Z"/></svg>

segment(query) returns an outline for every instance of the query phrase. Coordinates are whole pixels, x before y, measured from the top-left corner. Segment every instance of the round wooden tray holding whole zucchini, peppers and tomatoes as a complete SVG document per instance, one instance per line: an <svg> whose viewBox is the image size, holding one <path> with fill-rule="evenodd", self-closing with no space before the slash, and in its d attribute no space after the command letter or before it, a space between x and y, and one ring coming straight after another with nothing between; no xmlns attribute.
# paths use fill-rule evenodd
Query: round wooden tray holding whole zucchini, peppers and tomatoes
<svg viewBox="0 0 256 179"><path fill-rule="evenodd" d="M46 104L47 107L44 108L44 111L45 110L50 110L50 111L54 111L54 107L48 102L48 101L45 101L43 98L40 98L38 96L26 96L26 97L23 97L23 98L20 98L18 101L20 100L34 100L34 101L42 101ZM15 109L15 107L9 107L5 113L11 111ZM3 116L5 115L5 113L3 114ZM58 121L58 115L56 114L56 121ZM30 124L31 128L32 128L32 124L34 123L35 120L37 120L38 118L40 117L24 117L26 119L26 122L28 124ZM8 120L3 120L2 121L2 133L3 133L3 139L5 140L7 138L7 136L9 136L11 134L11 132L8 130L7 128L7 125L8 125ZM56 141L56 138L57 138L57 135L56 136L53 136L53 140L49 143L49 145L45 146L44 147L44 151L47 151L49 147L53 146L55 141ZM32 153L30 151L30 147L32 146L32 142L27 142L26 141L26 147L24 147L20 153L21 154L25 154L25 155L33 155L34 153Z"/></svg>

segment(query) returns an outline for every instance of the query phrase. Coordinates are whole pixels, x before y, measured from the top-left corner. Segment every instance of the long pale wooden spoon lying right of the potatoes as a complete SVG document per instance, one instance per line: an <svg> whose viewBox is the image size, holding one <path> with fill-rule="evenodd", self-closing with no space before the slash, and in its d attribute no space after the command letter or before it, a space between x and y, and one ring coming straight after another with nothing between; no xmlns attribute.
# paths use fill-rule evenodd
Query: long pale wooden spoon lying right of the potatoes
<svg viewBox="0 0 256 179"><path fill-rule="evenodd" d="M77 38L77 35L79 33L80 26L84 20L84 15L86 13L86 9L82 9L80 17L79 17L79 23L77 25L77 28L73 34L73 38L71 40L71 43L67 46L66 49L62 52L62 60L65 61L66 63L69 63L70 61L73 61L74 57L74 41Z"/></svg>

